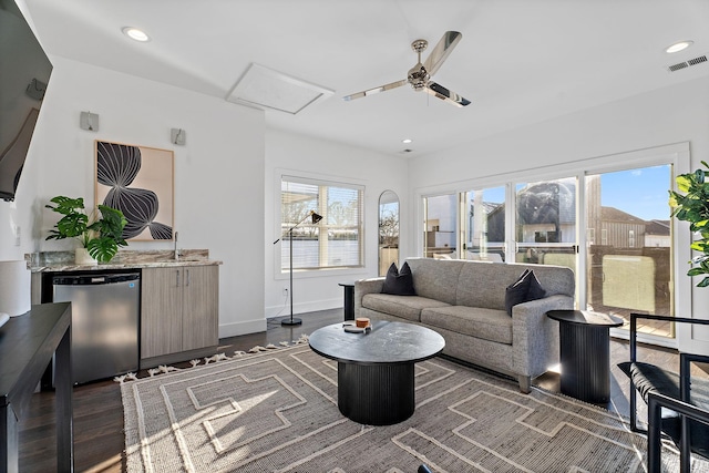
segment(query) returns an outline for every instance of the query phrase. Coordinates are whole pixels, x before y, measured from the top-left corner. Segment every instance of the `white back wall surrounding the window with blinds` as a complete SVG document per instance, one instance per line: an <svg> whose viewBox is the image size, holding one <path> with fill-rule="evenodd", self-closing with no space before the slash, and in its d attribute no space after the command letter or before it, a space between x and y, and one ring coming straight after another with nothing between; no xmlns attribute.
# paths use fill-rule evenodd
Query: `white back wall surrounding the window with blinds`
<svg viewBox="0 0 709 473"><path fill-rule="evenodd" d="M364 253L366 267L356 270L319 271L317 275L294 275L294 313L342 307L343 289L340 281L378 275L379 196L389 189L400 197L401 225L405 222L408 161L366 150L342 146L281 131L266 132L266 222L264 250L266 254L266 315L289 316L290 305L282 295L288 275L281 275L276 266L279 235L280 175L332 179L364 186ZM404 245L401 255L409 248Z"/></svg>

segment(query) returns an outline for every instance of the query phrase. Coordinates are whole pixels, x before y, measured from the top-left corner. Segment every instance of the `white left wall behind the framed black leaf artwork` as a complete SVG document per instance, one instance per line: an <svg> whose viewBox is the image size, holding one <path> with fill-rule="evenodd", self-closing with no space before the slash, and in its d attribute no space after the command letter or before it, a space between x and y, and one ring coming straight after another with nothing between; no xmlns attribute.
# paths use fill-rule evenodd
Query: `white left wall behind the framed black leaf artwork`
<svg viewBox="0 0 709 473"><path fill-rule="evenodd" d="M264 113L110 70L52 58L54 70L14 203L0 202L0 259L73 248L45 241L56 222L44 205L55 195L94 205L94 140L175 153L175 229L182 248L207 248L220 267L219 336L265 330ZM79 127L81 111L100 131ZM184 128L185 146L169 141ZM21 245L14 246L14 228ZM166 249L137 241L127 249Z"/></svg>

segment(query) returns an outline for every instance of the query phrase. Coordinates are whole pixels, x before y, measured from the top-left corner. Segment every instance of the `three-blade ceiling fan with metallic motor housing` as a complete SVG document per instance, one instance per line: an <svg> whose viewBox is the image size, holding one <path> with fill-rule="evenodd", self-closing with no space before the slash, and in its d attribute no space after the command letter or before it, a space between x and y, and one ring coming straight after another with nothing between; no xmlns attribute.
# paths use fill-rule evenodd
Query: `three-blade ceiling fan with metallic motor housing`
<svg viewBox="0 0 709 473"><path fill-rule="evenodd" d="M461 41L463 35L458 31L446 31L445 33L443 33L443 38L441 38L435 48L433 48L433 51L431 51L431 54L423 64L421 63L421 52L427 49L429 42L427 40L415 40L411 43L411 49L419 54L419 62L417 63L417 65L409 70L407 79L392 82L390 84L380 85L378 88L369 89L362 92L357 92L351 95L343 96L342 99L346 101L350 101L379 92L390 91L392 89L400 88L401 85L411 84L414 91L425 91L431 95L444 100L445 102L455 106L465 106L470 104L470 101L467 99L464 99L455 92L450 91L443 85L431 80L433 74L435 74L439 68L441 68L443 61L445 61L449 54L453 51L453 48L455 48L455 45Z"/></svg>

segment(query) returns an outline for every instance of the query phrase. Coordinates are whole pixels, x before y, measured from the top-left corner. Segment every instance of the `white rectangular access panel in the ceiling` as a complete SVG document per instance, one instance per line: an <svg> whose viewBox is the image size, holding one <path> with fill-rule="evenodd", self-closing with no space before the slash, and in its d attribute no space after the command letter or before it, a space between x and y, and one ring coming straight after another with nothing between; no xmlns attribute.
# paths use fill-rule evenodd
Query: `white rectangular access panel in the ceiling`
<svg viewBox="0 0 709 473"><path fill-rule="evenodd" d="M333 93L320 85L251 63L227 94L226 101L295 115Z"/></svg>

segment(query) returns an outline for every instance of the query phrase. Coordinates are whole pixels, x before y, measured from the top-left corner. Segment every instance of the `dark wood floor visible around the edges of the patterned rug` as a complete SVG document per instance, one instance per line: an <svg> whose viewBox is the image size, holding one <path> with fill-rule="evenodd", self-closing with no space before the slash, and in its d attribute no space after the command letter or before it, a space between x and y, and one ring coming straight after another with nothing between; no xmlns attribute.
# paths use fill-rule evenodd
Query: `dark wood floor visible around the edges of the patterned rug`
<svg viewBox="0 0 709 473"><path fill-rule="evenodd" d="M235 350L248 350L257 345L278 345L285 340L296 340L319 327L342 320L342 309L310 312L299 316L301 326L287 327L280 319L269 319L268 330L242 337L220 340L217 352L228 356ZM641 348L639 358L678 369L678 357L672 350ZM612 402L609 410L628 415L628 382L615 367L629 358L625 341L612 340ZM558 392L558 374L547 373L537 378L534 384ZM20 423L20 471L49 472L54 470L54 399L51 392L33 395L30 413ZM121 389L114 381L99 381L74 389L74 457L79 472L125 471L123 457L123 408Z"/></svg>

